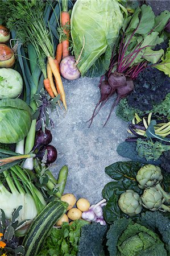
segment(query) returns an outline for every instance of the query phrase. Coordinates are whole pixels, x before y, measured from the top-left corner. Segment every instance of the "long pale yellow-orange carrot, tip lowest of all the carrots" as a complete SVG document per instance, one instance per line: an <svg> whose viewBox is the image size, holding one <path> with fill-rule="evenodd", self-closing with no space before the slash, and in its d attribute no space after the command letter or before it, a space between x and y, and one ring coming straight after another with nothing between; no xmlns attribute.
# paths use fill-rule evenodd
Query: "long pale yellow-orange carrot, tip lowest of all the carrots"
<svg viewBox="0 0 170 256"><path fill-rule="evenodd" d="M62 98L65 111L67 111L67 103L66 103L66 100L65 100L65 92L64 92L63 82L61 80L60 73L59 73L59 71L56 67L55 60L51 56L48 56L48 63L51 67L51 70L52 70L52 73L55 77L55 80L57 81L57 85L58 85L58 88L59 88L59 91L60 91L60 97Z"/></svg>

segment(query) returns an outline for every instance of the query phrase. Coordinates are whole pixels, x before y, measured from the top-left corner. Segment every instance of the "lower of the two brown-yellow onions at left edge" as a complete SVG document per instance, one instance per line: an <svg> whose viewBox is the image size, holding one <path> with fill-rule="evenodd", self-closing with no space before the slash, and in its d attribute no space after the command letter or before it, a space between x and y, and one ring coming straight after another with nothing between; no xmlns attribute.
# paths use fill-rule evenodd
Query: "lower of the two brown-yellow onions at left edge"
<svg viewBox="0 0 170 256"><path fill-rule="evenodd" d="M13 50L6 44L0 44L0 68L11 68L14 63L15 55Z"/></svg>

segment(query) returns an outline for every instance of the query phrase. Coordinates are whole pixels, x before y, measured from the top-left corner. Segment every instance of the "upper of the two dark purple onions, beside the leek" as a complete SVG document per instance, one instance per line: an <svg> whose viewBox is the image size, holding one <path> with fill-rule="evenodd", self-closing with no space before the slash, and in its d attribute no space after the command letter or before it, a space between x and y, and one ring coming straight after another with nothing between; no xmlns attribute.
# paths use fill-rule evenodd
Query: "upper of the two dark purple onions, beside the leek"
<svg viewBox="0 0 170 256"><path fill-rule="evenodd" d="M34 150L39 148L40 146L46 146L52 141L51 131L45 129L45 133L43 133L42 129L37 131L35 137L35 145Z"/></svg>

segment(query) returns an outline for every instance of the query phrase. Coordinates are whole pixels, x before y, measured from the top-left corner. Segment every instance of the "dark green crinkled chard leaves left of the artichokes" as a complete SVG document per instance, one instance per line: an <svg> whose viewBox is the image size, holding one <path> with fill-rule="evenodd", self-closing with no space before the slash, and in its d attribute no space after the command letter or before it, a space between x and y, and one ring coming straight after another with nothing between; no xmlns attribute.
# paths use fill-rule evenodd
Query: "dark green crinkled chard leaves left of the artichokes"
<svg viewBox="0 0 170 256"><path fill-rule="evenodd" d="M142 167L138 162L117 162L105 168L112 181L107 183L102 190L102 196L107 200L106 207L103 207L103 216L107 223L112 224L115 220L127 215L118 206L119 196L127 189L133 189L141 194L142 190L138 187L136 173Z"/></svg>

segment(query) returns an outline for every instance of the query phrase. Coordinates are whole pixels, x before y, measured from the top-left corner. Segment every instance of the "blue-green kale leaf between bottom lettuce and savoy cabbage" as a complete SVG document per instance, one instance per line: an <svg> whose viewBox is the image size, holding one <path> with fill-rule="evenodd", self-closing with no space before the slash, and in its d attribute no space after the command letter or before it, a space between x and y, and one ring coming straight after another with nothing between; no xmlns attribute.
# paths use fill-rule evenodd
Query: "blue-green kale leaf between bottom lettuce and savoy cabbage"
<svg viewBox="0 0 170 256"><path fill-rule="evenodd" d="M105 255L103 240L105 239L107 226L93 222L81 229L81 237L78 245L78 256Z"/></svg>

